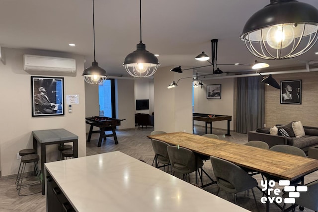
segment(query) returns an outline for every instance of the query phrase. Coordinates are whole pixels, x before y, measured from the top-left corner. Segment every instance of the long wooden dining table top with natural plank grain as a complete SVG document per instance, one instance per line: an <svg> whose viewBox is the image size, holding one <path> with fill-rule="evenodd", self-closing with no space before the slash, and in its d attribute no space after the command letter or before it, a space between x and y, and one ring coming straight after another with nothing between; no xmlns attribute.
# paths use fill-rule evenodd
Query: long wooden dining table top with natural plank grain
<svg viewBox="0 0 318 212"><path fill-rule="evenodd" d="M148 136L148 138L164 141L171 145L179 145L200 154L219 157L239 166L290 181L318 170L317 159L189 133L167 133Z"/></svg>

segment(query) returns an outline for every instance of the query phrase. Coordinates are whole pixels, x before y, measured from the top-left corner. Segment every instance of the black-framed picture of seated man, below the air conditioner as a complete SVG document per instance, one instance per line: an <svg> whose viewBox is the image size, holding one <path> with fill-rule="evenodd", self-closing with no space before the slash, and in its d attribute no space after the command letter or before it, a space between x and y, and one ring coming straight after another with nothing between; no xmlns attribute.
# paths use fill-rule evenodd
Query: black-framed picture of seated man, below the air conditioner
<svg viewBox="0 0 318 212"><path fill-rule="evenodd" d="M31 76L32 117L64 116L64 78Z"/></svg>

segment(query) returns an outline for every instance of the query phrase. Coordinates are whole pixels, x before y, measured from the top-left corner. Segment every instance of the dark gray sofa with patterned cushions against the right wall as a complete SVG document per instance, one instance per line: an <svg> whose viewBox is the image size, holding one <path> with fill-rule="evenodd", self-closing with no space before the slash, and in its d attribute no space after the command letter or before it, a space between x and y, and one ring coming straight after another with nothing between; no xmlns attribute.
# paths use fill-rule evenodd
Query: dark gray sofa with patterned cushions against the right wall
<svg viewBox="0 0 318 212"><path fill-rule="evenodd" d="M295 122L294 122L295 123ZM285 132L290 136L286 135L272 135L270 131L273 131L273 128L259 128L256 131L248 132L248 141L264 141L269 147L278 144L287 144L301 148L307 155L308 149L312 146L318 145L318 128L317 127L307 127L303 126L305 135L302 137L296 137L293 130L293 122L287 125L276 125L277 129L283 128ZM279 130L280 131L280 130Z"/></svg>

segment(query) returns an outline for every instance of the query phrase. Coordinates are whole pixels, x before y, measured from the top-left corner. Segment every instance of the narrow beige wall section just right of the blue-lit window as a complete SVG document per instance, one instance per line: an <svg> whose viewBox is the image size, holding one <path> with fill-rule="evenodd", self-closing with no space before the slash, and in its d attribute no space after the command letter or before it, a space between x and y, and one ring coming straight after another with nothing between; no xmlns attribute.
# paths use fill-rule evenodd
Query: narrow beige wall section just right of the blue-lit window
<svg viewBox="0 0 318 212"><path fill-rule="evenodd" d="M116 118L126 119L117 129L135 128L134 80L115 79Z"/></svg>

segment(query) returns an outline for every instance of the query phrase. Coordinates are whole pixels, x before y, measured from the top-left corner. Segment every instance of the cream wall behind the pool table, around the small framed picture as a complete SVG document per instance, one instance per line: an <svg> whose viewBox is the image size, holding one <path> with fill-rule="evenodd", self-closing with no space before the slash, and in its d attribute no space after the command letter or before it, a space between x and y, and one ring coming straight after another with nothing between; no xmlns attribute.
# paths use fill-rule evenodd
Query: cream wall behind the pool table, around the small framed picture
<svg viewBox="0 0 318 212"><path fill-rule="evenodd" d="M234 78L204 80L202 83L202 88L201 86L194 88L193 112L232 116L230 130L233 130ZM207 99L207 85L209 84L221 84L221 99ZM195 121L194 124L205 126L205 123L200 121ZM228 129L228 122L213 122L212 126L213 128Z"/></svg>

